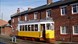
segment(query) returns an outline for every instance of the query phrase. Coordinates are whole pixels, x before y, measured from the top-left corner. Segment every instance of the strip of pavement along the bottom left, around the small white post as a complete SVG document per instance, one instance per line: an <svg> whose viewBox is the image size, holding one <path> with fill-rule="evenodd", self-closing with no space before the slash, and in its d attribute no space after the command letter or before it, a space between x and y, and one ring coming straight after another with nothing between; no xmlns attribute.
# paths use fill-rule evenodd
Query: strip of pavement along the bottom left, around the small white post
<svg viewBox="0 0 78 44"><path fill-rule="evenodd" d="M11 37L0 35L0 44L49 44L49 43L21 39L17 39L17 43L13 43L11 41Z"/></svg>

